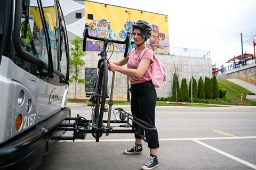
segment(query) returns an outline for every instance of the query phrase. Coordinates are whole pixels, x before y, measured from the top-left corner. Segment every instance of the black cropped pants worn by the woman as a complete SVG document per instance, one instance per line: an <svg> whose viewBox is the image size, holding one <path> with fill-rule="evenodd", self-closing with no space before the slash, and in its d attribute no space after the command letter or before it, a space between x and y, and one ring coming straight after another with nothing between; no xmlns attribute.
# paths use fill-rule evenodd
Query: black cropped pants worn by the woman
<svg viewBox="0 0 256 170"><path fill-rule="evenodd" d="M155 126L155 107L157 101L156 89L151 81L131 84L131 112L134 117ZM137 126L135 125L135 128ZM141 139L137 134L135 138ZM151 149L159 148L158 133L153 132L148 141Z"/></svg>

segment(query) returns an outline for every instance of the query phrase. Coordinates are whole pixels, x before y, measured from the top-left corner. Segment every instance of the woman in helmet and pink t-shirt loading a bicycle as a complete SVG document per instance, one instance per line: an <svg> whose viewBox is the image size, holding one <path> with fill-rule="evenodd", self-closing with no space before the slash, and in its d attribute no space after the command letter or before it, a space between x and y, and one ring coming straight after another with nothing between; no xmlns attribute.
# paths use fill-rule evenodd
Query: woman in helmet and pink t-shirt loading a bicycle
<svg viewBox="0 0 256 170"><path fill-rule="evenodd" d="M130 50L127 57L120 61L112 61L108 64L110 71L118 71L129 76L131 82L131 112L134 117L146 121L155 126L155 106L157 94L147 72L150 64L153 63L153 51L146 46L146 40L150 38L152 27L144 21L138 20L132 25L135 50ZM141 57L141 52L145 49ZM122 67L127 64L127 68ZM150 157L148 162L141 166L141 169L154 169L158 166L157 152L159 148L157 131L153 133L148 141ZM135 145L124 154L141 154L142 139L135 134Z"/></svg>

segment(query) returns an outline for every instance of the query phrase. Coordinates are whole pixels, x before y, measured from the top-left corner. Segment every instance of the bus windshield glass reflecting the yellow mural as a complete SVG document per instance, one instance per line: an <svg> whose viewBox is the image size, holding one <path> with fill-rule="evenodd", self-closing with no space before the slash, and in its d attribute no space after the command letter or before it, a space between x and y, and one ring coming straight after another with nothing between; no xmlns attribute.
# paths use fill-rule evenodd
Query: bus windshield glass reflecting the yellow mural
<svg viewBox="0 0 256 170"><path fill-rule="evenodd" d="M23 0L23 4L25 4ZM58 46L56 41L56 29L57 27L57 18L56 10L54 6L54 1L43 1L43 12L46 22L46 27L43 26L43 18L40 13L39 7L40 4L37 4L37 1L31 1L29 10L26 10L26 5L22 8L22 18L21 18L21 47L26 52L34 55L39 58L39 60L48 64L48 53L47 46L50 46L52 53L53 68L57 69L58 67ZM29 12L29 22L27 24L27 33L25 35L26 28L26 11ZM49 37L50 44L47 39Z"/></svg>

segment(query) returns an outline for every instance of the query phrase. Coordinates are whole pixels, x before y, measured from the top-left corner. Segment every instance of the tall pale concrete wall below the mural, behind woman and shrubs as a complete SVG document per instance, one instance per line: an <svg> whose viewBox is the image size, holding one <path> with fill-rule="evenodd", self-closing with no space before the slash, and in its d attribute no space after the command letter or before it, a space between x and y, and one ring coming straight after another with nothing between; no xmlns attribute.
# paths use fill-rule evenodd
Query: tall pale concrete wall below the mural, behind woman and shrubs
<svg viewBox="0 0 256 170"><path fill-rule="evenodd" d="M86 56L83 57L86 65L85 67L97 68L99 52L87 51ZM110 56L111 53L108 55ZM108 57L109 57L108 56ZM114 52L110 58L110 61L121 60L123 53ZM209 58L196 58L196 57L182 57L182 56L170 56L170 55L156 55L159 61L163 62L166 70L166 83L160 88L156 88L158 97L171 97L172 96L172 83L173 74L177 73L179 76L179 83L181 85L182 78L187 79L187 84L189 86L189 81L192 77L198 80L200 77L212 78L212 62ZM84 68L82 67L83 78ZM109 94L112 81L112 72L108 74L109 81ZM69 98L74 98L75 96L75 83L70 82L69 86ZM130 86L130 85L129 85ZM130 95L131 96L131 95ZM85 98L85 86L84 84L77 85L76 98ZM127 76L119 72L115 73L115 85L114 85L114 100L126 100L127 99Z"/></svg>

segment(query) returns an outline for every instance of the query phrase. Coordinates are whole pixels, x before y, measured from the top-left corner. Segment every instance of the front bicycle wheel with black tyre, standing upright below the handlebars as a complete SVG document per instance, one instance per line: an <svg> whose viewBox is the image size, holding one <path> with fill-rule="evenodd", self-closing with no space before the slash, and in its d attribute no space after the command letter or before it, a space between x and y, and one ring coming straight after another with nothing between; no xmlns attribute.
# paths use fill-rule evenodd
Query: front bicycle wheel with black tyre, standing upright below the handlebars
<svg viewBox="0 0 256 170"><path fill-rule="evenodd" d="M95 91L94 91L94 109L92 112L92 122L93 122L93 128L92 128L92 135L96 139L96 141L99 141L99 138L101 137L103 133L103 114L105 111L105 103L107 98L107 92L108 92L108 62L107 60L104 60L100 66L97 82L95 84Z"/></svg>

